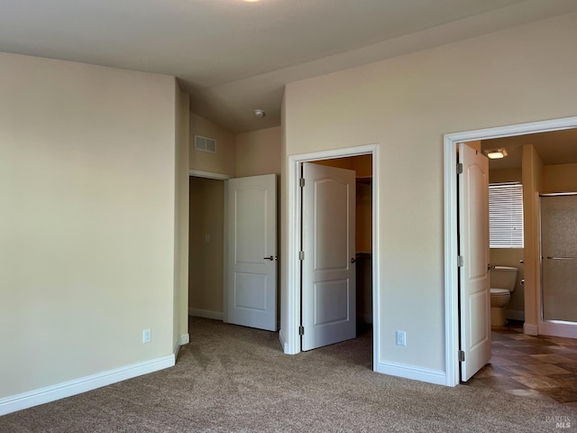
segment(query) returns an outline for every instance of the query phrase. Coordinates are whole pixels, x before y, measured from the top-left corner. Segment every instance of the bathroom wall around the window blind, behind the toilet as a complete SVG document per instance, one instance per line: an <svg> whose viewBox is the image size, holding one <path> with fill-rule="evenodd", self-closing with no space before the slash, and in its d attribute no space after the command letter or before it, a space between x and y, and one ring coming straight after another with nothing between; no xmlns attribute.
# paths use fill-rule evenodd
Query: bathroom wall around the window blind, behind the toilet
<svg viewBox="0 0 577 433"><path fill-rule="evenodd" d="M490 165L490 162L489 162ZM522 170L500 169L489 170L489 182L520 182L522 180ZM500 266L513 266L517 273L516 289L511 293L511 300L505 310L505 317L514 320L525 320L525 287L521 285L521 280L525 278L525 266L519 263L524 259L524 248L491 248L490 263Z"/></svg>

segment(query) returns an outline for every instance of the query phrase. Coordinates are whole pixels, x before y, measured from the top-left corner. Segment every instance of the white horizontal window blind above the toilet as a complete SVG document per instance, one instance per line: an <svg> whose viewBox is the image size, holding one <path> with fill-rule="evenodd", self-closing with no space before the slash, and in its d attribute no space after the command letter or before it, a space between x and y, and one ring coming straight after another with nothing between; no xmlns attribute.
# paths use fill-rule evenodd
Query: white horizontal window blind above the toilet
<svg viewBox="0 0 577 433"><path fill-rule="evenodd" d="M489 185L490 248L523 248L523 185Z"/></svg>

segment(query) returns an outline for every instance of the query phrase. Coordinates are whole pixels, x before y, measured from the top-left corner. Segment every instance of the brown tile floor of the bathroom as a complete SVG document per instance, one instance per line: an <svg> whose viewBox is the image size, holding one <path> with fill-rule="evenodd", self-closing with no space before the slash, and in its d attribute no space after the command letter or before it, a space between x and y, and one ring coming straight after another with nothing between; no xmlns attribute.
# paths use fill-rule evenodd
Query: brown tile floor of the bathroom
<svg viewBox="0 0 577 433"><path fill-rule="evenodd" d="M491 332L491 359L466 386L577 407L577 338L527 336L523 322Z"/></svg>

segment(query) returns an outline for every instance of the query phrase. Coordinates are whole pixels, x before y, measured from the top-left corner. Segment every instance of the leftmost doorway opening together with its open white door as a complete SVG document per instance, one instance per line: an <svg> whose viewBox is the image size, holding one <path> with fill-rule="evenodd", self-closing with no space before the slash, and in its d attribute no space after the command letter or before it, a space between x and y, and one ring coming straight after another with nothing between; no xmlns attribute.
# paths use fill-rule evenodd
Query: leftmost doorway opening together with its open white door
<svg viewBox="0 0 577 433"><path fill-rule="evenodd" d="M189 171L188 316L278 329L276 183Z"/></svg>

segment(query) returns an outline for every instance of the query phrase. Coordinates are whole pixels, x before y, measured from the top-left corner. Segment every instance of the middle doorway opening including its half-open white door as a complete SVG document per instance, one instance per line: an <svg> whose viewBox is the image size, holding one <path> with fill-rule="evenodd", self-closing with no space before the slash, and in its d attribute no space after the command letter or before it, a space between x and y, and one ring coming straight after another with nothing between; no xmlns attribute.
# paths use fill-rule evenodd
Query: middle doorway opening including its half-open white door
<svg viewBox="0 0 577 433"><path fill-rule="evenodd" d="M371 155L303 163L303 351L371 336L371 167Z"/></svg>

